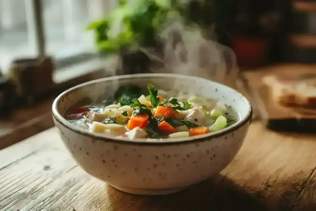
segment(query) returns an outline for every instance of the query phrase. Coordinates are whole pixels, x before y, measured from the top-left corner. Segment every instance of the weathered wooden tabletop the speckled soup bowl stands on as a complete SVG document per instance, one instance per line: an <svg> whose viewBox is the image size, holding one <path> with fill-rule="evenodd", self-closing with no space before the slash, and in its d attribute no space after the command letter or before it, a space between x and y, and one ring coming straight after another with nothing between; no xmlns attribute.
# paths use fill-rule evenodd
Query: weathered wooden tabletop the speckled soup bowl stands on
<svg viewBox="0 0 316 211"><path fill-rule="evenodd" d="M85 173L56 128L0 151L0 210L316 210L316 137L253 122L233 162L182 192L130 195Z"/></svg>

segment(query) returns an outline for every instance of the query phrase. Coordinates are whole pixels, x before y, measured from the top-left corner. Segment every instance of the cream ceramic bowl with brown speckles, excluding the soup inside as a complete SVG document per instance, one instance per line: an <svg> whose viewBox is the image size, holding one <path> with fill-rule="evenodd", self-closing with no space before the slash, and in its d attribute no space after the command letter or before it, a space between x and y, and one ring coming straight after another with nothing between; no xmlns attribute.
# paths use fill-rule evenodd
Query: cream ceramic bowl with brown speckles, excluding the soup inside
<svg viewBox="0 0 316 211"><path fill-rule="evenodd" d="M164 90L220 99L238 112L240 120L201 136L144 142L89 133L64 118L67 109L84 99L113 95L124 84L145 88L147 83ZM222 171L239 151L252 120L250 102L236 90L203 78L160 73L115 76L80 84L59 95L52 112L64 145L84 171L114 188L141 195L177 192Z"/></svg>

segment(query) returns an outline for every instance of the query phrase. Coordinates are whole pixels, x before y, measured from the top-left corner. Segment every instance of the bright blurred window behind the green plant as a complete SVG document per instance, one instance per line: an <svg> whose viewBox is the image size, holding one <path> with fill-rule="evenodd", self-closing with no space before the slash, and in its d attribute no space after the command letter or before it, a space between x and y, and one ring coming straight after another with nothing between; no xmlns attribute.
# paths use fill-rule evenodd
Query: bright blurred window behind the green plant
<svg viewBox="0 0 316 211"><path fill-rule="evenodd" d="M0 0L2 73L8 72L13 59L37 57L40 47L56 60L58 69L97 58L93 32L85 29L115 4L115 0ZM37 14L42 14L39 31Z"/></svg>

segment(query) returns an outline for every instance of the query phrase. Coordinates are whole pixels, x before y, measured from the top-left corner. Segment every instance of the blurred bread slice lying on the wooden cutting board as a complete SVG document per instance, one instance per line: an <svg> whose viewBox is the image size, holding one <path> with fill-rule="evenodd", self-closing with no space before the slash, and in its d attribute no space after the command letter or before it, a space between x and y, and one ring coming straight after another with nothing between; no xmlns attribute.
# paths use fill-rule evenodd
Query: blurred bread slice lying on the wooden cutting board
<svg viewBox="0 0 316 211"><path fill-rule="evenodd" d="M273 102L286 107L316 108L316 78L295 80L266 76L262 82L269 87Z"/></svg>

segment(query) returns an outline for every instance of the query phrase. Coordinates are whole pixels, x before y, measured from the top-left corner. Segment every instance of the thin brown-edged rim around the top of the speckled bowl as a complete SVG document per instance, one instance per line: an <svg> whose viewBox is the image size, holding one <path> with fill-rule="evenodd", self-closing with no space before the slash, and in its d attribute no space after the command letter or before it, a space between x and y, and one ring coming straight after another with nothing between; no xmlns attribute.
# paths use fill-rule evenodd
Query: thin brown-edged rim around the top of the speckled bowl
<svg viewBox="0 0 316 211"><path fill-rule="evenodd" d="M207 133L204 135L199 135L199 136L191 136L191 138L164 138L163 140L166 141L157 141L157 139L135 139L135 140L130 140L127 137L115 137L112 135L107 135L107 134L102 134L100 133L92 133L89 131L86 131L85 129L78 127L72 123L70 123L68 120L66 120L59 112L58 112L58 101L60 98L62 98L64 95L70 93L71 91L74 91L80 87L89 85L89 84L94 84L94 83L99 83L99 82L104 82L104 81L111 81L111 80L118 80L122 78L140 78L140 77L173 77L173 78L187 78L187 79L196 79L196 80L204 80L206 82L212 82L214 84L218 84L220 86L224 86L227 89L230 89L234 91L236 94L240 94L242 100L246 102L248 105L247 108L247 113L246 115L237 121L235 124L226 127L222 130L216 131L216 132L211 132ZM237 111L238 112L238 111ZM252 105L249 102L249 100L243 96L240 92L237 90L234 90L233 88L230 88L224 84L217 83L215 81L206 79L206 78L200 78L200 77L195 77L195 76L186 76L186 75L180 75L180 74L173 74L173 73L139 73L139 74L127 74L127 75L120 75L120 76L111 76L111 77L106 77L106 78L99 78L95 80L91 80L76 86L73 86L70 89L65 90L62 92L56 99L54 100L52 104L52 115L53 118L58 121L60 124L62 124L64 127L67 127L68 129L72 130L73 132L79 133L83 136L86 136L88 138L91 138L93 140L103 140L106 142L115 142L117 144L132 144L132 145L179 145L179 144L190 144L192 142L198 143L198 142L203 142L206 140L211 140L212 138L217 138L220 136L224 136L230 132L234 132L235 130L239 129L240 127L244 126L248 121L252 121ZM158 139L160 140L160 139Z"/></svg>

